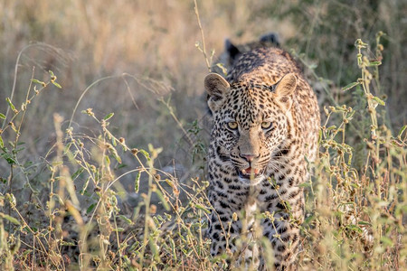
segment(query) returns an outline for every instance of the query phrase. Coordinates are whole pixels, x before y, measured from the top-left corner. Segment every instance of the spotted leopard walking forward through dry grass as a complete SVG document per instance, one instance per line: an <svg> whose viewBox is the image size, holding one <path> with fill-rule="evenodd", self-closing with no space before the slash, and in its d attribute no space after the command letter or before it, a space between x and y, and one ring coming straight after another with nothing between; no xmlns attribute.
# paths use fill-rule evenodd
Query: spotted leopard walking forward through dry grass
<svg viewBox="0 0 407 271"><path fill-rule="evenodd" d="M210 253L229 256L230 269L296 270L303 184L317 159L317 97L289 52L275 46L233 50L225 78L216 72L204 78L213 115Z"/></svg>

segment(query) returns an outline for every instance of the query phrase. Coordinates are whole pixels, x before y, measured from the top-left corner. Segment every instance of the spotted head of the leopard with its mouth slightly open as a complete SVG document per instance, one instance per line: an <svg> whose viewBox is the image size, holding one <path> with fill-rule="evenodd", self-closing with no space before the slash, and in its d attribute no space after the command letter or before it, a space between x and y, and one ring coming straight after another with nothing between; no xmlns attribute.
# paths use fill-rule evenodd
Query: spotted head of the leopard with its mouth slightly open
<svg viewBox="0 0 407 271"><path fill-rule="evenodd" d="M222 163L232 164L241 182L261 182L273 155L281 153L289 136L296 75L286 74L276 82L242 78L229 84L210 73L204 86L213 112L213 154Z"/></svg>

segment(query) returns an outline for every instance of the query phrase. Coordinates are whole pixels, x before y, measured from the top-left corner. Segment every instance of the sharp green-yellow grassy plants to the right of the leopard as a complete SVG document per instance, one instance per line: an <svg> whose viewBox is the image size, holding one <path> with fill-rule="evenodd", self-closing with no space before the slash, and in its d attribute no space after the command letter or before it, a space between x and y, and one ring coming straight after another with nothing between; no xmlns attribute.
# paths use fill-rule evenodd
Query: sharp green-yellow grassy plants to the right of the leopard
<svg viewBox="0 0 407 271"><path fill-rule="evenodd" d="M327 120L321 126L319 159L313 180L306 185L305 266L323 270L405 268L406 126L392 135L384 125L385 115L377 113L383 113L384 102L371 92L380 87L374 84L379 82L382 35L377 34L374 59L365 53L368 44L355 42L361 74L343 88L355 91L355 98L367 107L324 107ZM335 116L340 121L333 124ZM356 117L362 119L355 122ZM356 128L361 122L365 128ZM356 140L349 138L355 129Z"/></svg>

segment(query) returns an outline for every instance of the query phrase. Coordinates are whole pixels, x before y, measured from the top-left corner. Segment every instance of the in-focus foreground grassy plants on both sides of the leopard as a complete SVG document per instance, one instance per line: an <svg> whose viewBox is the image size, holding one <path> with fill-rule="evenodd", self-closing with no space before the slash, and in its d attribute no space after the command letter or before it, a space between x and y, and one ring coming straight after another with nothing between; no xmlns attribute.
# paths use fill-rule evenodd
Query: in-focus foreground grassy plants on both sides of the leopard
<svg viewBox="0 0 407 271"><path fill-rule="evenodd" d="M377 53L383 48L381 34ZM344 91L355 91L367 107L324 108L327 119L320 132L321 151L317 162L310 164L313 179L304 184L307 219L302 226L300 266L310 270L402 270L407 256L403 247L406 126L393 135L383 124L377 110L384 102L371 93L379 81L380 61L364 55L368 44L357 40L355 46L361 76ZM174 174L157 168L162 149L128 146L124 137L110 130L113 113L97 117L91 108L82 111L98 124L96 135L77 133L72 126L62 130L63 118L54 114L56 140L43 157L46 183L30 180L31 165L21 163L24 147L19 136L33 99L50 91L51 85L61 88L52 71L46 81L31 79L22 105L16 107L7 99L10 114L0 116L5 126L1 157L9 171L1 184L2 267L211 269L222 262L222 257L210 257L209 241L204 237L211 209L205 196L208 182L192 179L181 183ZM358 130L360 142L347 138L355 129L356 116L369 123L367 130ZM196 128L189 131L200 134ZM360 151L355 153L357 148ZM121 173L127 156L136 166ZM358 165L360 160L363 163ZM12 185L19 175L25 176L23 189ZM139 201L126 214L119 199L128 193L120 183L127 175L134 180L133 192ZM28 201L23 200L26 192Z"/></svg>

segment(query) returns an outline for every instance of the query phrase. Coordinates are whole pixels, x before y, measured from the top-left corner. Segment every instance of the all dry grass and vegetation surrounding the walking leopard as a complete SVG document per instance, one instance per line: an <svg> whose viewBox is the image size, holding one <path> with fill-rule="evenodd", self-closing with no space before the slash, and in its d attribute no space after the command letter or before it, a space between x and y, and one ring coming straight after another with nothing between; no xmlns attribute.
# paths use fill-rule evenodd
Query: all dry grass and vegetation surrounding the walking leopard
<svg viewBox="0 0 407 271"><path fill-rule="evenodd" d="M224 38L268 32L325 107L301 269L406 269L404 1L198 5L204 43L194 1L2 2L0 269L221 265L203 79Z"/></svg>

